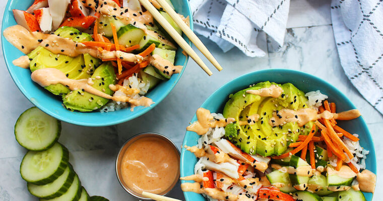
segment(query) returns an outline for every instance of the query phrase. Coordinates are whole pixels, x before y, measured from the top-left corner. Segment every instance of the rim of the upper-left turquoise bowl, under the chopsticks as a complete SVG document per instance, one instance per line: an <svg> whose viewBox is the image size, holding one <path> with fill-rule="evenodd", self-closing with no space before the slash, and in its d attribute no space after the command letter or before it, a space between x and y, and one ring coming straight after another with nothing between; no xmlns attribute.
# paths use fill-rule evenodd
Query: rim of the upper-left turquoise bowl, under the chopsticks
<svg viewBox="0 0 383 201"><path fill-rule="evenodd" d="M185 12L188 14L189 16L189 24L190 24L190 29L193 31L194 30L194 25L193 25L193 15L192 15L192 11L190 10L190 4L187 0L181 0L182 1L182 4L185 4L186 6L186 10ZM101 122L101 123L90 123L90 122L81 122L81 121L75 121L75 120L72 120L70 119L70 116L69 117L62 117L62 115L60 114L56 114L56 113L53 113L51 112L50 110L46 109L43 104L40 104L38 102L35 102L32 100L32 96L31 94L23 87L23 85L21 84L20 80L17 80L17 75L15 74L15 72L13 72L13 70L11 68L13 67L16 67L12 64L12 61L9 61L9 58L8 58L8 52L6 51L5 49L5 46L4 44L5 43L9 43L5 37L3 36L3 32L6 28L8 27L5 27L5 24L7 23L10 15L9 15L9 11L11 9L11 4L14 2L14 0L9 0L7 2L7 5L5 7L5 10L4 10L4 13L3 13L3 21L2 21L2 50L3 50L3 57L4 57L4 60L5 60L5 63L6 63L6 66L7 66L7 69L8 69L8 72L9 74L11 75L11 78L12 80L14 81L15 85L17 86L17 88L21 91L21 93L29 100L30 103L32 103L34 106L36 106L38 109L40 109L42 112L46 113L47 115L55 118L55 119L58 119L60 121L63 121L63 122L67 122L67 123L70 123L70 124L74 124L74 125L79 125L79 126L88 126L88 127L102 127L102 126L112 126L112 125L117 125L117 124L121 124L121 123L124 123L124 122L127 122L127 121L130 121L130 120L133 120L133 119L136 119L144 114L146 114L147 112L149 112L150 110L152 110L154 107L156 107L158 104L160 104L162 102L162 100L170 93L171 90L173 90L173 88L175 87L175 85L178 83L179 79L181 78L181 76L183 75L183 72L185 71L185 68L186 68L186 64L188 62L188 59L189 57L186 56L185 57L185 61L183 63L183 67L182 67L182 70L181 72L177 75L176 79L174 80L174 83L166 88L166 90L162 93L162 95L156 100L156 102L154 104L152 104L150 107L144 107L144 108L141 108L139 113L136 113L136 114L133 114L133 115L128 115L128 116L125 116L125 117L122 117L122 118L119 118L118 120L115 120L113 122ZM184 33L182 33L182 36L184 36ZM188 44L190 45L190 47L193 46L193 43L188 40ZM169 81L169 80L165 80L165 81ZM53 98L52 98L53 99ZM130 107L128 108L125 108L127 110L130 109ZM71 112L68 110L68 112ZM115 111L114 111L115 112ZM90 113L100 113L98 111L92 111ZM100 113L101 114L101 113ZM105 115L105 117L107 118L107 116Z"/></svg>

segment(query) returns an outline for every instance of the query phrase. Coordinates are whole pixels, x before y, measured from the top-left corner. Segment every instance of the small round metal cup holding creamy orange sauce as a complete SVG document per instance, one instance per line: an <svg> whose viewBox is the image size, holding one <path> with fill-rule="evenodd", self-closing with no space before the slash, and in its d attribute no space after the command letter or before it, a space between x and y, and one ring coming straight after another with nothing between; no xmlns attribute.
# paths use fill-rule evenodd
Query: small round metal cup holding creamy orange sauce
<svg viewBox="0 0 383 201"><path fill-rule="evenodd" d="M141 145L147 145L147 146L138 146L139 143L141 143ZM149 145L153 145L153 146L149 146ZM158 148L165 148L166 150L165 149L163 149L162 151L156 150L155 153L153 153L153 151L150 150L150 148L153 148L155 146L157 146ZM174 153L171 153L172 158L169 159L168 155L162 155L162 160L160 160L161 153L166 153L166 151L169 152L170 149L173 149L172 151L174 151ZM138 151L140 151L140 152L138 152ZM145 157L141 157L141 159L143 159L143 162L139 161L140 158L132 159L132 157L133 158L135 157L134 153L142 154L143 153L142 151L144 151L144 152L152 151L152 153L145 154ZM170 151L170 152L172 152L172 151ZM164 157L164 156L166 156L166 157ZM129 158L131 158L131 159L129 159ZM151 165L151 166L148 166L148 165L145 166L144 163L146 162L146 164L148 164L148 160L150 160L150 158L154 159L154 163L149 163L149 165ZM176 173L174 180L169 180L168 182L166 182L166 183L170 183L170 185L167 189L164 189L162 192L153 192L153 193L160 194L160 195L166 195L168 192L170 192L171 189L173 189L173 187L175 186L175 184L179 180L179 158L180 158L180 152L177 149L177 147L175 146L175 144L169 138L167 138L161 134L158 134L158 133L140 133L140 134L137 134L137 135L133 136L132 138L130 138L129 140L127 140L122 145L120 151L118 152L118 155L116 158L117 179L118 179L119 183L121 184L121 186L127 192L129 192L131 195L133 195L139 199L150 200L150 198L144 197L141 193L137 192L137 190L134 190L131 187L129 187L129 183L131 180L132 180L132 182L135 182L135 181L137 182L139 175L142 176L143 174L137 173L137 174L135 174L136 176L130 177L131 180L127 180L127 178L124 179L124 175L126 177L129 177L126 174L130 174L130 173L133 174L133 172L137 171L137 169L139 171L143 169L143 168L136 168L138 166L147 168L147 171L146 171L147 174L145 174L145 175L148 175L148 174L149 175L153 175L153 174L154 175L161 175L161 174L164 175L164 172L162 172L164 170ZM173 159L176 161L173 161ZM168 163L162 163L161 168L159 168L160 163L158 163L158 162L163 162L165 160L170 160L168 162L172 163L173 165L175 164L175 167L172 167L173 165L169 167L167 165ZM155 165L153 165L153 164L157 165L157 168L155 168L154 167ZM126 167L121 167L122 165L124 165ZM130 169L128 167L130 167ZM153 167L153 168L151 169L151 167ZM125 169L123 169L123 168L125 168ZM176 172L174 171L175 168L177 169ZM152 170L154 170L154 171L152 172ZM158 170L158 174L155 172L156 170ZM174 174L172 176L174 176ZM167 178L161 178L160 179L161 182L163 182L164 179L167 179ZM172 179L172 178L170 178L170 179ZM135 180L135 181L133 181L133 180ZM148 183L149 181L146 180L146 182ZM154 184L157 182L155 179L153 179L150 183ZM138 186L137 183L134 183L134 184L136 184L134 186ZM145 190L145 189L143 189L143 190ZM151 192L151 191L149 191L149 192Z"/></svg>

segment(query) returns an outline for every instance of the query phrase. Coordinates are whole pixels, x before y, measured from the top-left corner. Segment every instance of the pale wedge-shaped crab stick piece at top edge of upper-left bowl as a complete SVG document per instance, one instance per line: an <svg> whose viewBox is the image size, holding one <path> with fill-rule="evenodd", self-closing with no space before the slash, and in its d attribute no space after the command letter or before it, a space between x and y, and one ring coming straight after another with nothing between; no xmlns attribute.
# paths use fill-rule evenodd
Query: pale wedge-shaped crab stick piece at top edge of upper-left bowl
<svg viewBox="0 0 383 201"><path fill-rule="evenodd" d="M53 20L53 30L60 26L70 3L70 0L48 0L49 13Z"/></svg>

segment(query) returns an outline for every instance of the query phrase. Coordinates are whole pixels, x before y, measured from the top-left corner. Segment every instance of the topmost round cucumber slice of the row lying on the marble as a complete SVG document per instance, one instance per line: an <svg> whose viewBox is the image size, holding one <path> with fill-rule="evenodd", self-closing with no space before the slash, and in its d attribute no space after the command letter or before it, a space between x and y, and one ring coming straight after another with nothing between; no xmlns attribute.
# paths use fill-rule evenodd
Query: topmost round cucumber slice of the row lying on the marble
<svg viewBox="0 0 383 201"><path fill-rule="evenodd" d="M15 124L17 142L28 150L50 148L60 137L61 122L36 107L26 110Z"/></svg>

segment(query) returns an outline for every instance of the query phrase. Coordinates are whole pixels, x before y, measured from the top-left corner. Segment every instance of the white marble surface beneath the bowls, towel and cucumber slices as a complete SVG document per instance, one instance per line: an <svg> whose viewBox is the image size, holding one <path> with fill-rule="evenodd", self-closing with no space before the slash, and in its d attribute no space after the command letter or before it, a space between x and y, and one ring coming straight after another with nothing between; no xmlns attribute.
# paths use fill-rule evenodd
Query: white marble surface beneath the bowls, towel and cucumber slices
<svg viewBox="0 0 383 201"><path fill-rule="evenodd" d="M0 0L4 13L6 0ZM383 152L379 143L383 137L383 117L374 110L351 85L340 66L330 18L330 1L291 0L285 46L278 53L264 58L248 58L238 50L222 53L205 39L213 55L222 64L222 72L208 77L190 60L184 76L156 108L133 121L103 128L86 128L62 124L60 142L70 152L70 160L83 186L91 195L102 195L110 200L136 200L119 185L114 172L114 160L119 146L132 135L153 131L170 137L179 147L185 127L196 109L218 87L229 80L251 71L265 68L290 68L315 74L347 94L362 113L375 142L377 153ZM267 44L260 44L267 50ZM2 53L1 53L2 54ZM202 56L201 56L202 57ZM205 62L208 61L205 59ZM238 65L239 64L239 65ZM19 115L32 106L13 83L0 55L0 200L37 200L26 189L19 174L25 150L14 137L14 124ZM12 92L11 92L12 91ZM11 95L8 95L11 94ZM166 104L165 104L166 103ZM168 108L168 105L178 107ZM377 155L378 172L383 171L383 156ZM379 180L373 200L383 196L383 180ZM179 187L169 196L184 199Z"/></svg>

